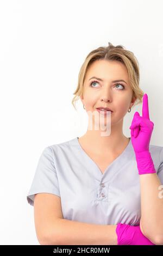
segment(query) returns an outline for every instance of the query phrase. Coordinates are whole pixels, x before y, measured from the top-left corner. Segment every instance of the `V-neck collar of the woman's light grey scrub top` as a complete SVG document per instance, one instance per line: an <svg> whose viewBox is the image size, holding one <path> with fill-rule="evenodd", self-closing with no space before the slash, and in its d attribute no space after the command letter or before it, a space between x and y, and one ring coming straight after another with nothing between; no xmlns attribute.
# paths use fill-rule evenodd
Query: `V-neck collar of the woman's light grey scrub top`
<svg viewBox="0 0 163 256"><path fill-rule="evenodd" d="M130 138L130 137L129 137ZM127 145L127 147L123 150L123 152L118 155L116 157L116 159L114 161L112 161L108 167L106 167L104 173L101 172L101 169L99 169L99 167L97 166L97 164L95 163L95 161L93 161L91 159L91 157L89 155L87 155L87 153L84 151L84 149L82 148L82 146L80 145L79 141L78 141L78 137L72 139L73 143L77 145L78 149L82 152L83 156L86 157L87 161L89 161L89 163L93 164L94 167L96 167L97 169L97 172L98 172L98 175L99 178L103 178L106 176L106 173L108 173L108 170L109 170L109 173L111 173L113 169L120 169L121 166L123 166L123 164L125 163L125 161L129 160L129 156L127 153L131 153L131 151L133 150L133 148L131 147L131 138L130 138L130 141ZM115 173L115 170L112 174Z"/></svg>

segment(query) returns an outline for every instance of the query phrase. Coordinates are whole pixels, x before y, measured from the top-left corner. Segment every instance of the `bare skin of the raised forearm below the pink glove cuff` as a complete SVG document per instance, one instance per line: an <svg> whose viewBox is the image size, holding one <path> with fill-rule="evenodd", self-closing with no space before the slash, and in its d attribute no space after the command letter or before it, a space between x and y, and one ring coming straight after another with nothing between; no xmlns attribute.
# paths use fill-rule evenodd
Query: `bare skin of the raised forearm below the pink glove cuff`
<svg viewBox="0 0 163 256"><path fill-rule="evenodd" d="M159 196L160 185L156 173L140 175L143 235L157 245L163 245L163 198Z"/></svg>

